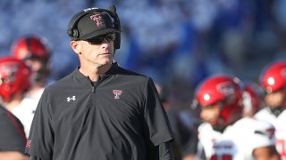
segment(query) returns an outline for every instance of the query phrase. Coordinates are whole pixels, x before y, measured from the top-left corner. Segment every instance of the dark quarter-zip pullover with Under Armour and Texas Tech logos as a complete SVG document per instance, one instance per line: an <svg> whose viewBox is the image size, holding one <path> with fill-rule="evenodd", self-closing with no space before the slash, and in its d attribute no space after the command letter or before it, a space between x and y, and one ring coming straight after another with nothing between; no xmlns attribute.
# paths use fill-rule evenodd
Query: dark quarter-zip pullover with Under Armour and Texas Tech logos
<svg viewBox="0 0 286 160"><path fill-rule="evenodd" d="M44 160L143 160L169 140L152 79L114 63L95 84L77 68L47 86L26 151Z"/></svg>

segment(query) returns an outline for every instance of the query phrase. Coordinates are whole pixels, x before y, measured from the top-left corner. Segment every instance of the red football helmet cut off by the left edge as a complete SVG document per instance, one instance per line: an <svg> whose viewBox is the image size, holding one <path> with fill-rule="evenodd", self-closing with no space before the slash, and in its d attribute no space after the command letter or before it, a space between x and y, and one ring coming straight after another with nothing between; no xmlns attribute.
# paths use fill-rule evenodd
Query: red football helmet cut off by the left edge
<svg viewBox="0 0 286 160"><path fill-rule="evenodd" d="M13 98L13 94L25 92L29 89L28 66L19 59L13 57L0 58L0 96L7 101Z"/></svg>

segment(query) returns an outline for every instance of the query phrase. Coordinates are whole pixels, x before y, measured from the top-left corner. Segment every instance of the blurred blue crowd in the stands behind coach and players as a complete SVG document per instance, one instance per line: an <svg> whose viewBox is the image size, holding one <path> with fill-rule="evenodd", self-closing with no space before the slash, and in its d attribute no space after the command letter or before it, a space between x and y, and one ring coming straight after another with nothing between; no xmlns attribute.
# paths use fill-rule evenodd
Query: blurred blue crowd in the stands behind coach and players
<svg viewBox="0 0 286 160"><path fill-rule="evenodd" d="M69 20L111 4L122 23L115 60L168 86L178 107L189 107L206 76L257 82L266 64L286 59L286 0L1 0L0 55L20 36L45 37L52 76L62 78L79 66L66 34Z"/></svg>

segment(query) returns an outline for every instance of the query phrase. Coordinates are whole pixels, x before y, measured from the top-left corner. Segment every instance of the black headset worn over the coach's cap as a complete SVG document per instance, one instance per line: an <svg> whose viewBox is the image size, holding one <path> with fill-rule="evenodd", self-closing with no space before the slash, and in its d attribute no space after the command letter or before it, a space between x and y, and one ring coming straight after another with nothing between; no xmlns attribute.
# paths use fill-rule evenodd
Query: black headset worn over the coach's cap
<svg viewBox="0 0 286 160"><path fill-rule="evenodd" d="M77 28L77 24L79 20L87 15L89 12L107 12L107 14L114 19L114 29L118 30L119 32L115 32L115 40L114 40L114 49L119 49L120 48L120 43L121 43L121 36L120 36L120 31L121 31L121 25L120 25L120 20L118 18L118 15L116 13L116 8L114 5L110 6L110 10L105 10L101 8L87 8L81 12L78 12L76 15L74 15L68 25L68 30L66 33L71 36L73 39L78 39L80 34L79 30Z"/></svg>

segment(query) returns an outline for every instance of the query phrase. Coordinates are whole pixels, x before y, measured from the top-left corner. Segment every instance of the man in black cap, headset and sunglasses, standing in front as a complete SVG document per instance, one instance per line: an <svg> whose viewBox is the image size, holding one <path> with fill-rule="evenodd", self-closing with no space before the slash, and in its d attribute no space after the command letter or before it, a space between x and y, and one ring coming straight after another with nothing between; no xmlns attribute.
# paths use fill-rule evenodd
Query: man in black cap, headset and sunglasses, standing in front
<svg viewBox="0 0 286 160"><path fill-rule="evenodd" d="M155 84L113 60L120 47L116 12L88 8L67 32L80 67L43 92L30 159L172 159L172 130Z"/></svg>

